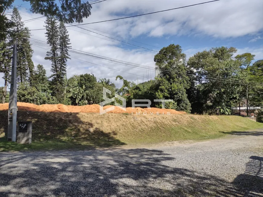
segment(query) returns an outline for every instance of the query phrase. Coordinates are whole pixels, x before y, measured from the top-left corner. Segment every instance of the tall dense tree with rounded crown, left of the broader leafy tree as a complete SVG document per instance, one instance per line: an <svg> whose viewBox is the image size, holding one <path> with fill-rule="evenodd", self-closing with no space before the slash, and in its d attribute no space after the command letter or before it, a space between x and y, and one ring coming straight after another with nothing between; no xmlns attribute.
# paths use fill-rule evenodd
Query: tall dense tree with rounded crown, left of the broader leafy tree
<svg viewBox="0 0 263 197"><path fill-rule="evenodd" d="M191 106L186 94L186 89L190 87L186 55L182 53L180 45L170 44L162 48L154 56L154 62L160 70L157 77L156 98L171 99L174 103L170 108L190 112Z"/></svg>

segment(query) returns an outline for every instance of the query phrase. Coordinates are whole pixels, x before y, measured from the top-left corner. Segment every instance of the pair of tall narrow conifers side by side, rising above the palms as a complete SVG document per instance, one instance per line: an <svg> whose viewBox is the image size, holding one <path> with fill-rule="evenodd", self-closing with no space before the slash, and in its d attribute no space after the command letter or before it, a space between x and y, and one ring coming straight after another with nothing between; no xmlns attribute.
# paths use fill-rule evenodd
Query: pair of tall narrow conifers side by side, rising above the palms
<svg viewBox="0 0 263 197"><path fill-rule="evenodd" d="M67 29L63 22L58 22L56 19L47 17L46 20L46 37L47 44L50 45L50 50L47 51L46 60L51 61L51 72L53 73L50 89L53 96L57 98L60 103L63 103L65 76L67 74L67 59L69 59L68 49L70 48L70 39Z"/></svg>

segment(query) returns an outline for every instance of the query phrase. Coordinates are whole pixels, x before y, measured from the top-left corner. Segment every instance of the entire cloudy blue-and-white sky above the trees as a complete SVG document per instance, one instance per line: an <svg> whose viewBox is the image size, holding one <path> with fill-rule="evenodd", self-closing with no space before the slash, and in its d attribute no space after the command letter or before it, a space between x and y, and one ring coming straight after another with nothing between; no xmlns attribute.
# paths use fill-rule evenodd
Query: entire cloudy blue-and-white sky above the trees
<svg viewBox="0 0 263 197"><path fill-rule="evenodd" d="M106 0L94 4L91 9L92 14L88 18L84 18L83 23L140 15L206 1ZM24 3L27 2L21 0L15 0L14 2L16 5ZM24 8L30 8L29 6L30 4L22 5ZM22 21L41 16L32 14L22 7L19 8ZM255 54L255 60L260 60L263 59L262 10L263 0L220 0L152 15L80 26L108 37L78 27L68 27L67 29L73 49L151 68L154 68L154 55L162 47L166 47L169 44L179 44L183 49L183 53L186 53L187 58L198 51L225 46L236 47L238 49L237 54ZM30 21L25 23L25 27L42 29L45 25L44 21L45 18ZM31 38L46 42L45 32L46 30L31 31ZM32 48L34 50L34 65L44 65L44 68L47 70L47 76L50 76L51 62L44 59L47 50L36 46L32 46ZM136 84L153 79L155 76L154 72L149 72L148 70L109 63L74 53L70 54L70 56L72 58L67 63L68 78L74 74L93 73L97 80L109 78L117 87L121 87L122 82L119 80L115 81L118 75ZM0 77L0 86L3 86L2 73L0 73Z"/></svg>

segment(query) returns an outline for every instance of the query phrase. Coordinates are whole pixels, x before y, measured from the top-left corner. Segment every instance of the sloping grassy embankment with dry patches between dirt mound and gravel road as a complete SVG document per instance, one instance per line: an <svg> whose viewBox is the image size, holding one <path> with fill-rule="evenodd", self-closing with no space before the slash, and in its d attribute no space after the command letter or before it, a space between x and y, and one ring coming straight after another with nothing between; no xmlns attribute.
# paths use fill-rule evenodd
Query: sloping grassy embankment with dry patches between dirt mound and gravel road
<svg viewBox="0 0 263 197"><path fill-rule="evenodd" d="M136 121L135 117L145 120ZM0 151L86 149L165 141L208 140L235 131L263 128L263 124L239 116L205 115L136 116L18 111L18 121L33 122L32 144L6 142L4 132L7 131L7 111L0 111Z"/></svg>

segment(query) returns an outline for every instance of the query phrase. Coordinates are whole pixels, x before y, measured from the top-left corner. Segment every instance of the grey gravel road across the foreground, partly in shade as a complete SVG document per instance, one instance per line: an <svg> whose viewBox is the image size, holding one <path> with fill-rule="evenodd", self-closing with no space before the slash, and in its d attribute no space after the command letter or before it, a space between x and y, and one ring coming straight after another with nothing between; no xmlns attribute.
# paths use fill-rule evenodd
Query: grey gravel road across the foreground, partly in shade
<svg viewBox="0 0 263 197"><path fill-rule="evenodd" d="M263 130L133 149L0 153L0 196L263 196Z"/></svg>

